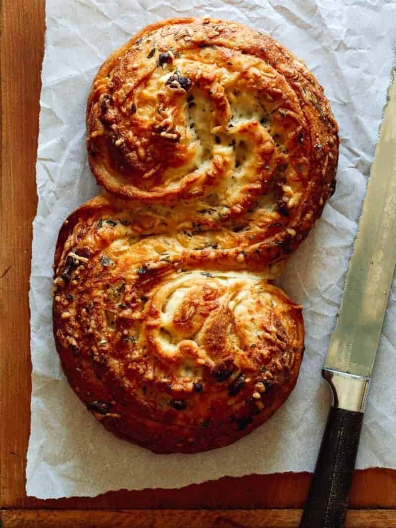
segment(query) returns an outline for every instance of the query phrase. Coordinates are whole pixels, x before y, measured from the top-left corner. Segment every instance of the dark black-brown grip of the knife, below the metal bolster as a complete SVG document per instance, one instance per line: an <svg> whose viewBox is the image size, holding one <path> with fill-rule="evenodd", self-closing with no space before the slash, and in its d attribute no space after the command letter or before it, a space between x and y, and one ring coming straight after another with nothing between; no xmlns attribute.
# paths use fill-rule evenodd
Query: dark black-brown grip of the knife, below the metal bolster
<svg viewBox="0 0 396 528"><path fill-rule="evenodd" d="M362 412L330 409L300 528L344 526L362 422Z"/></svg>

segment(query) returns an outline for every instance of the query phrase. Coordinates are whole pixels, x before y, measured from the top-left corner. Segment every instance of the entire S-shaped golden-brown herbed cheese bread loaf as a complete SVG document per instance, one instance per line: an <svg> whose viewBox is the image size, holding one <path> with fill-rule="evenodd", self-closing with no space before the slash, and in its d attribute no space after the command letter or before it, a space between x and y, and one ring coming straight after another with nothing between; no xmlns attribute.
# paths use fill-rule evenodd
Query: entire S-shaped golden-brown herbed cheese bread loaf
<svg viewBox="0 0 396 528"><path fill-rule="evenodd" d="M148 26L102 65L64 223L54 333L106 428L158 452L229 444L293 389L301 307L268 283L334 190L337 125L305 65L209 19Z"/></svg>

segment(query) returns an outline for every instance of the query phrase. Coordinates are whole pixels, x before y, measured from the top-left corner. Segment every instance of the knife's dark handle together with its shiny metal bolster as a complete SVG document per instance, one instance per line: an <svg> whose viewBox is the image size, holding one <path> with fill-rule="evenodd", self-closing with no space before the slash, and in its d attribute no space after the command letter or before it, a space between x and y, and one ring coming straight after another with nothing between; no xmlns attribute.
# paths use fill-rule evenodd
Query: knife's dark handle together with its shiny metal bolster
<svg viewBox="0 0 396 528"><path fill-rule="evenodd" d="M300 528L343 528L369 379L324 371L334 394ZM338 407L338 405L340 405ZM347 407L346 409L342 407Z"/></svg>

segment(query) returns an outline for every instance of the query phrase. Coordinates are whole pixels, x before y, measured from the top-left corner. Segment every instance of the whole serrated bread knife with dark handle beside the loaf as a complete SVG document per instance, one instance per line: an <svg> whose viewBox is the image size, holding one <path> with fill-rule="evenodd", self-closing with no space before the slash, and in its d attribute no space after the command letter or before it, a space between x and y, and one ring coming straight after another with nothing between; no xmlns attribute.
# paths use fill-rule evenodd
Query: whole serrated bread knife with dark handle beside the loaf
<svg viewBox="0 0 396 528"><path fill-rule="evenodd" d="M396 68L375 149L324 379L333 405L300 528L342 528L396 262Z"/></svg>

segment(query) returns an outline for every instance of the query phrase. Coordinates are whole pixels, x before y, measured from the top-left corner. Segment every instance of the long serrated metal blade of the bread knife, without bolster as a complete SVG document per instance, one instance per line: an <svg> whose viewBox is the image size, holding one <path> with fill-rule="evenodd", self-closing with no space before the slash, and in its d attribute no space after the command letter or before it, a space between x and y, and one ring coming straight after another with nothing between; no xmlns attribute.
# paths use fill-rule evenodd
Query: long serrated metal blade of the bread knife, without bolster
<svg viewBox="0 0 396 528"><path fill-rule="evenodd" d="M367 378L373 370L396 262L395 71L325 360L325 369Z"/></svg>

